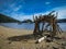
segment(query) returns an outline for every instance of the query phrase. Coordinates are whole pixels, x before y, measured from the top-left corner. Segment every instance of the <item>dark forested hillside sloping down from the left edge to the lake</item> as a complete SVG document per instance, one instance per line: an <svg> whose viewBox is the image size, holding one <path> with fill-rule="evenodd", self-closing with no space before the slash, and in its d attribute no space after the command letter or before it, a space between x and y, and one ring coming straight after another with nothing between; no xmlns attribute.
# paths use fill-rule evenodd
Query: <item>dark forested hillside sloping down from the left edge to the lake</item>
<svg viewBox="0 0 66 49"><path fill-rule="evenodd" d="M0 14L0 23L15 23L15 22L20 22L20 21L14 20L14 19L7 16L4 14Z"/></svg>

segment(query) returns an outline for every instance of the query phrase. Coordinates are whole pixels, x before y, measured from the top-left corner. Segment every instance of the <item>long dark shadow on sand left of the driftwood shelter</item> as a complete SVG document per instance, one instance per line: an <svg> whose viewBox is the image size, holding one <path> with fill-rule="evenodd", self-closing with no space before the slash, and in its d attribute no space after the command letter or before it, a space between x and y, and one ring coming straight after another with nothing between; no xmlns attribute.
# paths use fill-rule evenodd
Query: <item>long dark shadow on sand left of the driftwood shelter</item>
<svg viewBox="0 0 66 49"><path fill-rule="evenodd" d="M21 35L21 36L13 36L13 37L9 37L8 38L8 40L11 40L11 41L21 41L21 40L29 40L29 39L34 39L33 34Z"/></svg>

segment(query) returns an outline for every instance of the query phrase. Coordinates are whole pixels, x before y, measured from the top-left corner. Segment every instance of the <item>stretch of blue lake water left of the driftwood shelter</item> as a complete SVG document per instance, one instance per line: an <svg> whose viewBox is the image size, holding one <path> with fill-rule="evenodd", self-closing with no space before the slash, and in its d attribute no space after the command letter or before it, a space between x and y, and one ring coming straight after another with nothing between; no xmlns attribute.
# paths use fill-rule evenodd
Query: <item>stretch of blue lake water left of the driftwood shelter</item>
<svg viewBox="0 0 66 49"><path fill-rule="evenodd" d="M18 23L1 23L0 25L10 27L10 28L23 28L23 29L33 29L34 24L30 23L23 23L23 24L18 24Z"/></svg>

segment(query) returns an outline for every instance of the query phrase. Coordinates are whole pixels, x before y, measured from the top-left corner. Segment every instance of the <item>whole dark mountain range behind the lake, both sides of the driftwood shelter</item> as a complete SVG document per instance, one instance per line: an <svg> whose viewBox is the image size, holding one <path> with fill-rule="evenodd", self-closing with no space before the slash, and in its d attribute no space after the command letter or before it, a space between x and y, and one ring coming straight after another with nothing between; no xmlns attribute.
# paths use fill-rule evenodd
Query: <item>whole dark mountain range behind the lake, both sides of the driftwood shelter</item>
<svg viewBox="0 0 66 49"><path fill-rule="evenodd" d="M33 23L32 20L24 20L22 22L15 20L15 19L12 19L10 16L7 16L4 14L0 14L0 23ZM66 19L61 19L61 20L57 20L57 23L66 23Z"/></svg>

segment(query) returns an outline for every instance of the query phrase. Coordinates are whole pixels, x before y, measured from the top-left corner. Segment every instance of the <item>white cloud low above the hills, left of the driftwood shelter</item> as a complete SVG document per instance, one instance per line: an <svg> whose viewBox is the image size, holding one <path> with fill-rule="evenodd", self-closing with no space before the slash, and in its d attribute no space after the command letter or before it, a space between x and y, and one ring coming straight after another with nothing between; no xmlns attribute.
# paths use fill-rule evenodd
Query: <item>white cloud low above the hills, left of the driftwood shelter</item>
<svg viewBox="0 0 66 49"><path fill-rule="evenodd" d="M11 13L11 17L15 19L15 20L19 20L19 21L23 21L23 20L32 20L33 19L33 15L25 15L24 13L15 13L15 12L12 12Z"/></svg>

